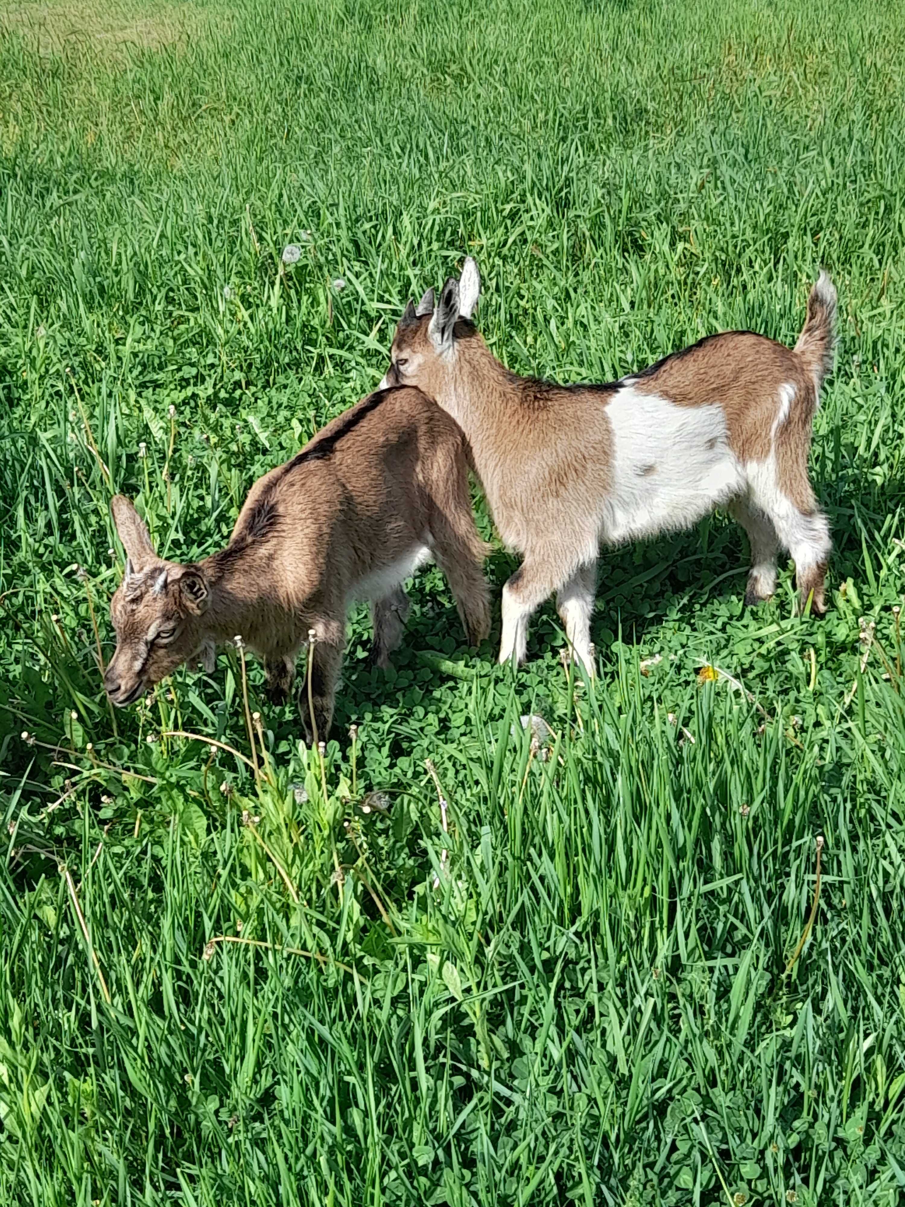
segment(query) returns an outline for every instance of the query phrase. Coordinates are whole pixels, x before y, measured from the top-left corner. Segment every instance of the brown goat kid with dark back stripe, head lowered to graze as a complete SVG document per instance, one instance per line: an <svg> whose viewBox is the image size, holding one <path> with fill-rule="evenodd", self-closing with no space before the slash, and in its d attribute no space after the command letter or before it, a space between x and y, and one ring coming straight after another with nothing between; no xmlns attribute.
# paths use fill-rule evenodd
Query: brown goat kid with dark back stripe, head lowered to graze
<svg viewBox="0 0 905 1207"><path fill-rule="evenodd" d="M285 699L313 630L314 721L325 739L350 601L372 601L372 657L389 665L409 611L402 584L432 558L468 641L490 631L465 437L420 390L372 393L259 478L229 544L204 561L158 558L129 500L117 495L111 506L128 554L110 605L117 646L105 686L116 705L188 659L212 669L216 643L237 635L263 657L272 696ZM310 724L306 696L302 707Z"/></svg>

